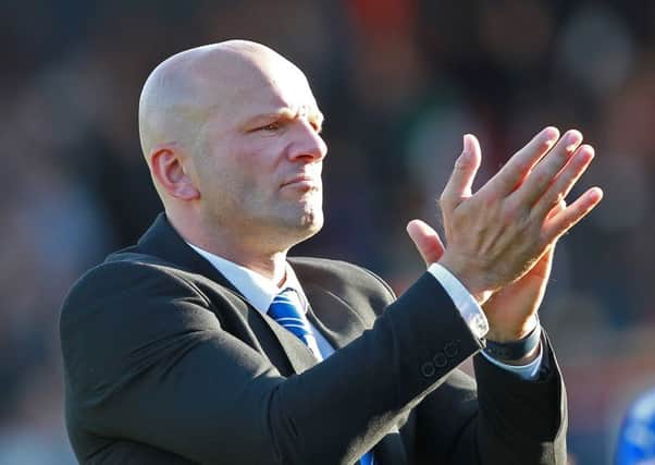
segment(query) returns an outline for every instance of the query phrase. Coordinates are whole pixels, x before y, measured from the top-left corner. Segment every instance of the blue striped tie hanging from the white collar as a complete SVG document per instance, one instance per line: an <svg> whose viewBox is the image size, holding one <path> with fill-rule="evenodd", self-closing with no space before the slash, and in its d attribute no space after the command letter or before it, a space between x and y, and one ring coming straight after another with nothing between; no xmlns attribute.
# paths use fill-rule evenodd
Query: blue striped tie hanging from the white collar
<svg viewBox="0 0 655 465"><path fill-rule="evenodd" d="M292 287L286 287L280 294L277 294L268 311L269 316L273 318L282 327L291 331L309 347L309 350L317 356L319 360L323 357L319 351L317 339L311 331L309 321L305 317L302 311L302 305L298 293ZM360 465L375 465L373 461L373 453L367 452L359 461Z"/></svg>

